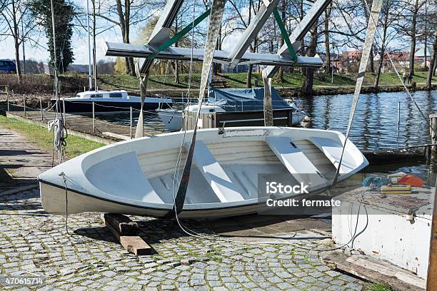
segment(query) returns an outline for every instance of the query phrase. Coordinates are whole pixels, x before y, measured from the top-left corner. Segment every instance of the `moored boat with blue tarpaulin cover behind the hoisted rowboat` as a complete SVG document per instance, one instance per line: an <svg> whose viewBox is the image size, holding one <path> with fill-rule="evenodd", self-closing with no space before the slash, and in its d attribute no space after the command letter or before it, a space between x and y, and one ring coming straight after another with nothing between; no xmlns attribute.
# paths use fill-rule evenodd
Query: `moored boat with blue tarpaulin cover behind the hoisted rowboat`
<svg viewBox="0 0 437 291"><path fill-rule="evenodd" d="M263 90L264 88L211 88L208 102L201 106L201 113L263 111ZM292 125L296 126L301 123L306 113L296 106L293 99L282 99L274 88L271 90L273 110L293 108ZM183 112L196 113L199 111L199 105L186 106L184 111L174 108L157 109L156 111L167 130L180 131L184 119Z"/></svg>

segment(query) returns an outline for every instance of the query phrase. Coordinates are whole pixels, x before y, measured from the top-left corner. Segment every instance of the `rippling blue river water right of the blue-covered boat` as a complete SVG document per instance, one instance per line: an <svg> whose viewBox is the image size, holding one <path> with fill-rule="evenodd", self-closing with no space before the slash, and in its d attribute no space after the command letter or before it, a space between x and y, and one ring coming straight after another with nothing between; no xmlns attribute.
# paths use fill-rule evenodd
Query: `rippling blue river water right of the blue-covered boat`
<svg viewBox="0 0 437 291"><path fill-rule="evenodd" d="M426 118L436 111L437 91L411 94ZM353 94L345 94L298 101L311 117L309 127L345 133L352 99ZM405 92L361 94L350 138L362 150L405 148L431 141L426 121Z"/></svg>

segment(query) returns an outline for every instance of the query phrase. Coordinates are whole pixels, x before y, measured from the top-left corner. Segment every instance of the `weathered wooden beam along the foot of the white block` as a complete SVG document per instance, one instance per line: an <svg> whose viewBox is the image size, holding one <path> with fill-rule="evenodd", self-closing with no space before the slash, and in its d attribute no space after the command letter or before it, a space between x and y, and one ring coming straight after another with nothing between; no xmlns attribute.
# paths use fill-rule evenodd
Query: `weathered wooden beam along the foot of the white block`
<svg viewBox="0 0 437 291"><path fill-rule="evenodd" d="M389 285L395 290L425 290L426 283L421 277L373 257L348 255L341 251L335 251L326 253L321 257L321 260L334 269L348 272L363 280Z"/></svg>

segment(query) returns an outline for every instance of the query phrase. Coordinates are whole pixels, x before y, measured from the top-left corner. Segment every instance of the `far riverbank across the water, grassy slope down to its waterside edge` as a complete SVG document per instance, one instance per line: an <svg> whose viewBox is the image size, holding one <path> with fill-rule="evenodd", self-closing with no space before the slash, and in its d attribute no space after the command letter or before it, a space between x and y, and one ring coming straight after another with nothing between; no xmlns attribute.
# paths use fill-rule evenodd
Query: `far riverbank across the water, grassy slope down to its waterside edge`
<svg viewBox="0 0 437 291"><path fill-rule="evenodd" d="M416 86L408 85L411 91L424 90L426 88L426 72L416 72L413 82ZM194 73L191 76L191 88L193 93L198 93L201 76ZM338 74L332 76L327 73L315 73L313 81L313 96L334 95L343 93L353 93L356 83L356 73ZM301 93L301 84L304 76L301 73L284 73L283 80L273 78L272 85L280 91L283 96L298 96ZM367 73L363 82L363 93L376 92L373 86L376 74ZM14 98L22 99L21 94L34 94L29 98L38 101L42 97L43 101L48 101L53 90L53 80L47 75L25 75L24 83L19 84L14 75L0 75L0 84L8 85L9 92L14 93ZM78 91L83 91L87 86L88 79L86 75L69 73L60 77L61 93L71 96ZM189 83L188 74L180 74L179 83L174 83L172 75L151 75L148 82L148 92L150 96L169 96L173 98L181 97L186 94ZM260 73L253 73L252 86L263 86ZM246 73L221 73L213 77L213 86L217 88L246 88ZM433 86L437 88L437 76L433 77ZM134 76L127 75L100 75L99 88L111 89L121 88L126 91L139 93L139 81ZM4 90L4 88L0 88ZM382 73L378 92L396 92L404 91L401 81L395 73ZM1 92L0 92L1 94ZM36 102L35 101L35 102Z"/></svg>

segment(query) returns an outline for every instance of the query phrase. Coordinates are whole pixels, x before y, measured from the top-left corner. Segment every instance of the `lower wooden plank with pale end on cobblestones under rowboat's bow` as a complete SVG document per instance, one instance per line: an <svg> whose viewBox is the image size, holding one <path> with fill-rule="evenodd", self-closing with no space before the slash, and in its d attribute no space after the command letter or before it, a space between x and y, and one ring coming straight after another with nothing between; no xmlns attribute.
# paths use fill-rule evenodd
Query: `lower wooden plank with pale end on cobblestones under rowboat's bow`
<svg viewBox="0 0 437 291"><path fill-rule="evenodd" d="M141 237L138 235L121 235L120 230L114 228L109 223L109 220L106 218L109 218L113 216L114 214L109 213L102 213L100 218L104 222L107 228L111 230L111 233L114 235L114 237L120 242L120 244L124 247L125 250L128 252L133 253L134 255L151 255L153 248L148 245ZM120 215L124 216L124 215ZM124 218L127 218L124 216ZM120 218L121 220L125 220L124 218ZM127 218L130 220L129 218ZM130 222L133 222L130 220Z"/></svg>

